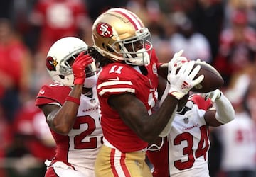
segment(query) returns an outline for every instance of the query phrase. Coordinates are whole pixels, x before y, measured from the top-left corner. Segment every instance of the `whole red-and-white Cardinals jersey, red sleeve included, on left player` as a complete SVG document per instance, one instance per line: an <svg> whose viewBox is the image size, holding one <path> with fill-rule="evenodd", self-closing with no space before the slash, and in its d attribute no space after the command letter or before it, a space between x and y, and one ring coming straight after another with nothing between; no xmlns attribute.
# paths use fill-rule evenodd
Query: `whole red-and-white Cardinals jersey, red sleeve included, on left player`
<svg viewBox="0 0 256 177"><path fill-rule="evenodd" d="M39 91L36 105L63 105L70 87L45 85ZM84 176L94 176L94 164L97 152L102 146L99 101L97 91L92 89L92 97L81 95L77 119L67 136L51 130L56 142L56 154L49 166L67 169L71 167ZM56 171L55 171L56 172Z"/></svg>

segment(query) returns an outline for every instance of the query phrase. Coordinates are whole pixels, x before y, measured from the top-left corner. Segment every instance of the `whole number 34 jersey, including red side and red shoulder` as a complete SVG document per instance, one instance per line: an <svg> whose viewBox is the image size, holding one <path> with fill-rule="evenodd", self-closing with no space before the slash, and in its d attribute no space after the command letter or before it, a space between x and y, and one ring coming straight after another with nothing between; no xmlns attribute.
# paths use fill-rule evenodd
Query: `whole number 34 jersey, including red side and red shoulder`
<svg viewBox="0 0 256 177"><path fill-rule="evenodd" d="M208 177L209 130L204 119L212 103L194 95L176 113L160 151L147 152L156 177ZM199 107L199 108L198 108Z"/></svg>

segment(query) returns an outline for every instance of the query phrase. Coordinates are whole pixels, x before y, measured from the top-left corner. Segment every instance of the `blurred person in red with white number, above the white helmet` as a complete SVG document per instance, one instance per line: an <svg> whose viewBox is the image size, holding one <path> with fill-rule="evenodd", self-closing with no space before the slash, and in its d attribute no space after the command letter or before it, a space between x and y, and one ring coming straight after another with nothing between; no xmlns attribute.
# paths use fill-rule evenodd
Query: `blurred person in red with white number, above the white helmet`
<svg viewBox="0 0 256 177"><path fill-rule="evenodd" d="M91 27L85 1L39 0L29 16L31 24L40 27L37 52L46 55L56 40L82 35Z"/></svg>

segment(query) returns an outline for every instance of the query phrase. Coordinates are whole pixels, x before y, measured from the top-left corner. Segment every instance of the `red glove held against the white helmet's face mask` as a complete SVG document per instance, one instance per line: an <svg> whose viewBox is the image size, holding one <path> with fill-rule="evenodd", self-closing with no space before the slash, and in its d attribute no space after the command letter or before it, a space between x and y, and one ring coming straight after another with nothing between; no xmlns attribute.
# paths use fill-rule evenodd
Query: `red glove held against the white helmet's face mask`
<svg viewBox="0 0 256 177"><path fill-rule="evenodd" d="M92 57L87 54L84 55L85 51L80 52L78 57L75 58L75 62L72 65L73 74L74 74L74 85L75 84L84 84L85 82L85 67L87 67L88 64L93 62Z"/></svg>

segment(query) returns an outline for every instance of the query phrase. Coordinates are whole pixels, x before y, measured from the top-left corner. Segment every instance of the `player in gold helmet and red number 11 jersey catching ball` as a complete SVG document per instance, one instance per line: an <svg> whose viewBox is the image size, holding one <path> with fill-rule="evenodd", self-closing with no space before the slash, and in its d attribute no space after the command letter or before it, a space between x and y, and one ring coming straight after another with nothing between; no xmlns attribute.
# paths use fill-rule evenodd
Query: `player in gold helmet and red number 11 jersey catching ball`
<svg viewBox="0 0 256 177"><path fill-rule="evenodd" d="M176 54L169 64L159 64L151 34L138 16L124 8L111 8L92 25L97 52L90 55L102 70L97 81L103 146L95 161L95 176L151 176L145 163L146 147L164 129L176 111L178 100L203 76L194 79L200 67L187 62L178 74L168 74L171 89L158 111L158 69L181 59ZM186 84L186 86L183 86Z"/></svg>

